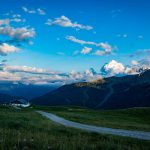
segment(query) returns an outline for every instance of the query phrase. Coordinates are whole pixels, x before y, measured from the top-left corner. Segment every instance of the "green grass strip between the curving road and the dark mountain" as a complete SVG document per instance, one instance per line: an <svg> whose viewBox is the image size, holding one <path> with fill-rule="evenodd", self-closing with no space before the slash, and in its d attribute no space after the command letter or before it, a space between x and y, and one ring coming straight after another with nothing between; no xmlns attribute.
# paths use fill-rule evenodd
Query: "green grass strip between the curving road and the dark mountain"
<svg viewBox="0 0 150 150"><path fill-rule="evenodd" d="M41 107L68 120L96 126L150 131L150 108L91 110L80 107Z"/></svg>

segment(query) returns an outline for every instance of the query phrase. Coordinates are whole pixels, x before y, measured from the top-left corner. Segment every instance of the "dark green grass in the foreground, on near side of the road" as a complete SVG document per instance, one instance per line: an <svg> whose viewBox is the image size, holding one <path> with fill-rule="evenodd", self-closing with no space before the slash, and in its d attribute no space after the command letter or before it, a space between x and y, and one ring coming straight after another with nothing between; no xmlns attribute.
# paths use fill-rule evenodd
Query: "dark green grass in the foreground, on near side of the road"
<svg viewBox="0 0 150 150"><path fill-rule="evenodd" d="M150 141L87 133L55 124L34 109L0 107L0 150L50 147L52 150L149 150Z"/></svg>

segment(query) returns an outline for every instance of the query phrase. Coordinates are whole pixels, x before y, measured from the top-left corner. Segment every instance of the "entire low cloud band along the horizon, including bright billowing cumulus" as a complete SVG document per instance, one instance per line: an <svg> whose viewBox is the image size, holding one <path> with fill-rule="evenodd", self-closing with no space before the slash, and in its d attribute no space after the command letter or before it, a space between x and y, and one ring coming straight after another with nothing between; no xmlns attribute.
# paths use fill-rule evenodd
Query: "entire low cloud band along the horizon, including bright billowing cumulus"
<svg viewBox="0 0 150 150"><path fill-rule="evenodd" d="M4 63L5 62L5 63ZM6 61L0 63L0 82L15 82L35 85L64 85L75 82L95 81L101 79L101 73L93 68L84 72L71 71L68 73L51 71L43 68L29 66L9 66ZM138 61L137 66L124 66L115 60L105 64L101 72L105 76L137 74L141 70L150 69L150 60Z"/></svg>

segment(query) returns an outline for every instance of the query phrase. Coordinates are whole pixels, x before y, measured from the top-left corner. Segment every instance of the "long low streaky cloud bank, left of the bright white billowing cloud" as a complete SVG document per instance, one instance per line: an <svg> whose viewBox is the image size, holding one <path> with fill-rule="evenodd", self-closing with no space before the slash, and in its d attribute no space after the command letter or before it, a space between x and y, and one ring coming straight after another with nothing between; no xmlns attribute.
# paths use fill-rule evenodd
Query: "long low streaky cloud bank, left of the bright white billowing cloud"
<svg viewBox="0 0 150 150"><path fill-rule="evenodd" d="M93 69L85 72L71 71L70 73L63 73L36 67L9 66L6 63L0 65L0 82L64 85L74 82L92 81L98 77L100 78L101 76Z"/></svg>

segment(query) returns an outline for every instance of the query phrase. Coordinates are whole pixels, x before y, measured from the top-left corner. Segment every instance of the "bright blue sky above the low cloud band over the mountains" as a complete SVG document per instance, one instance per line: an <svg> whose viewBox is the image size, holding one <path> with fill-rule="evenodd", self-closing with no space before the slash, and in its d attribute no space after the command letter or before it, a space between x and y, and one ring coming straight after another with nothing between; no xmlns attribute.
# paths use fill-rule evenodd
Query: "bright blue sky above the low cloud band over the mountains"
<svg viewBox="0 0 150 150"><path fill-rule="evenodd" d="M10 20L16 14L20 15L21 21L12 20L9 25L1 26L34 29L35 34L17 38L19 45L11 43L19 49L17 52L1 52L0 60L7 60L11 66L61 72L84 71L92 67L99 72L105 63L112 60L123 65L149 60L148 0L0 1L0 20ZM67 25L61 24L64 17L69 20ZM11 34L1 32L1 51L7 38L16 40ZM29 44L31 41L33 44Z"/></svg>

